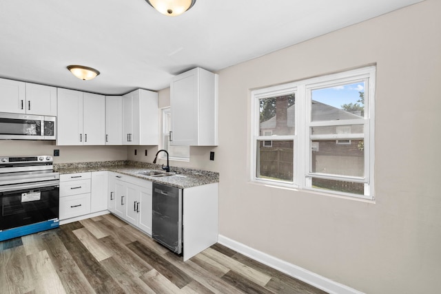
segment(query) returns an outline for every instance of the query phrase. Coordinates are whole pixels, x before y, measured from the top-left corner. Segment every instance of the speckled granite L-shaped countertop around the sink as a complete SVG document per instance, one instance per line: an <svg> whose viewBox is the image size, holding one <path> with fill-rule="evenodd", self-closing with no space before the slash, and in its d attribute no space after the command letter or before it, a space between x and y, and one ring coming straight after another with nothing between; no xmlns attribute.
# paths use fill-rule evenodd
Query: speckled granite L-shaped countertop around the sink
<svg viewBox="0 0 441 294"><path fill-rule="evenodd" d="M162 171L161 165L131 160L54 164L54 170L60 174L74 174L87 171L114 171L119 174L150 180L181 189L219 182L219 174L217 172L183 167L170 167L170 171L174 173L173 176L154 177L140 174L142 171L152 169Z"/></svg>

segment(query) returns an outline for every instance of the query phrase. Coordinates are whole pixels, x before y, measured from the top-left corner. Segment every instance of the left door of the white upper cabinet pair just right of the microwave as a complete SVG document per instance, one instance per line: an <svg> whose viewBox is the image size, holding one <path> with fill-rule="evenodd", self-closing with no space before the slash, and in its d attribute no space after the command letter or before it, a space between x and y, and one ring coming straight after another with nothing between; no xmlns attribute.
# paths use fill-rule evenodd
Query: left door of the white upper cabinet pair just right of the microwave
<svg viewBox="0 0 441 294"><path fill-rule="evenodd" d="M57 145L83 145L83 92L58 88Z"/></svg>

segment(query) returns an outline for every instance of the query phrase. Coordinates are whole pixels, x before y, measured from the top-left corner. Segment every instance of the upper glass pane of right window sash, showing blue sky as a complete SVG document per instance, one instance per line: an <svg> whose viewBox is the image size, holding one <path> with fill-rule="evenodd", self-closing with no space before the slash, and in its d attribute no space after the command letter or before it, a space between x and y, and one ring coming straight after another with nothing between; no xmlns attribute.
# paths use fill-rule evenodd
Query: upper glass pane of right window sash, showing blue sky
<svg viewBox="0 0 441 294"><path fill-rule="evenodd" d="M365 116L365 82L311 91L311 120L348 120Z"/></svg>

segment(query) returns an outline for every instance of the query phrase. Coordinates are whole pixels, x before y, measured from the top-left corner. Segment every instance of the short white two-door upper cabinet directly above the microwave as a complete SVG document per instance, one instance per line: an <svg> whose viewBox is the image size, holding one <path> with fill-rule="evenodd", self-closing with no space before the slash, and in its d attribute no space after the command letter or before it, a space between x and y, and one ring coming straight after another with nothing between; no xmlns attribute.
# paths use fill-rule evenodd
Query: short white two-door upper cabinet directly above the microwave
<svg viewBox="0 0 441 294"><path fill-rule="evenodd" d="M57 88L0 78L1 112L57 116Z"/></svg>

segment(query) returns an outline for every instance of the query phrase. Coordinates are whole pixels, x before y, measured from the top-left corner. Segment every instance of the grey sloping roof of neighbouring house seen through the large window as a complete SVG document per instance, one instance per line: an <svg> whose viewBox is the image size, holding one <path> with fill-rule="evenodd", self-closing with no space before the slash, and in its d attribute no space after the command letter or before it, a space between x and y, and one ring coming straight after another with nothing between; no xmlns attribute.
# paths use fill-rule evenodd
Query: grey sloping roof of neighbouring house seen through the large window
<svg viewBox="0 0 441 294"><path fill-rule="evenodd" d="M295 108L296 105L292 105L287 109L287 127L294 127L295 125ZM347 120L358 119L362 116L347 112L343 109L338 109L334 106L312 101L312 119L313 120ZM277 116L269 118L260 123L260 129L274 129L276 127Z"/></svg>

